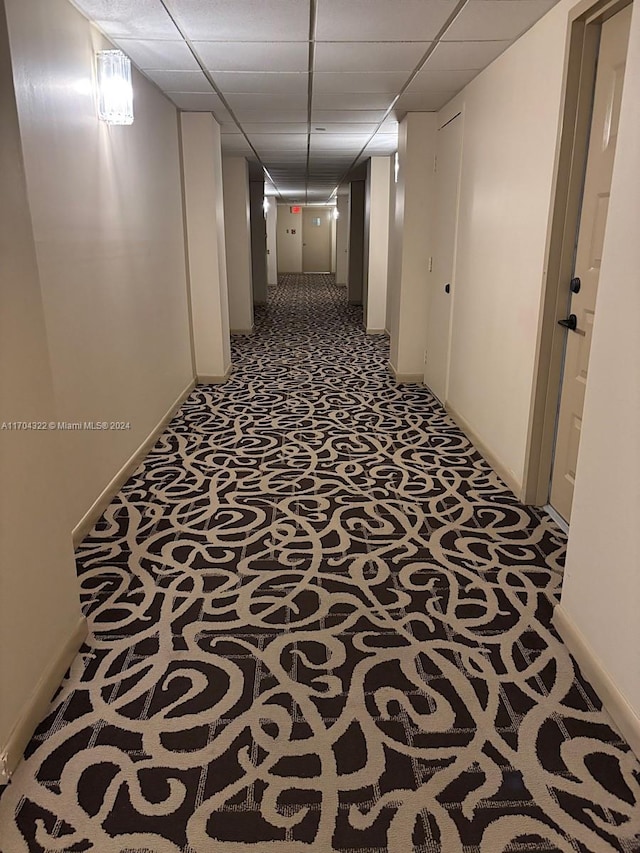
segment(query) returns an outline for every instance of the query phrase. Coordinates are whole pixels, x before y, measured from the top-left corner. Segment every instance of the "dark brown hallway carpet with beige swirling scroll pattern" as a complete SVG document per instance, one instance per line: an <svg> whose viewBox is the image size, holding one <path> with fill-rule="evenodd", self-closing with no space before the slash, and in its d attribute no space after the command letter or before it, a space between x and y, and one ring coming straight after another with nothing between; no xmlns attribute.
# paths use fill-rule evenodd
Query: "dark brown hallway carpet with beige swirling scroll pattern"
<svg viewBox="0 0 640 853"><path fill-rule="evenodd" d="M640 851L551 626L565 538L331 276L285 276L77 553L83 647L2 853Z"/></svg>

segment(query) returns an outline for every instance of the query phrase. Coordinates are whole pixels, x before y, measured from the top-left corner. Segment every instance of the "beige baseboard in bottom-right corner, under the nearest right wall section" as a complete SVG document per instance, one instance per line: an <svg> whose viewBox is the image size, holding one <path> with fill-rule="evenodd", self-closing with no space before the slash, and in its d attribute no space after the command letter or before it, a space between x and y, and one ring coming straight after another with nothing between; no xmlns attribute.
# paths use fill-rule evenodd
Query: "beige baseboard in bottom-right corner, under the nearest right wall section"
<svg viewBox="0 0 640 853"><path fill-rule="evenodd" d="M553 611L553 625L576 659L582 674L598 694L602 705L635 755L640 758L640 718L635 714L611 676L600 663L573 619L561 604Z"/></svg>

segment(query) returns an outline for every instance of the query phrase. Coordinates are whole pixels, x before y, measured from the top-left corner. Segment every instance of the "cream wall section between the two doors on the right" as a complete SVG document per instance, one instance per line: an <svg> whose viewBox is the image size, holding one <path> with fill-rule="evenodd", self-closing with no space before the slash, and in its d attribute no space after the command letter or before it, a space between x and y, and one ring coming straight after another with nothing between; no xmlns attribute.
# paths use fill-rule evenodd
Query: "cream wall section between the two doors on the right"
<svg viewBox="0 0 640 853"><path fill-rule="evenodd" d="M571 0L438 116L464 103L448 404L522 483Z"/></svg>

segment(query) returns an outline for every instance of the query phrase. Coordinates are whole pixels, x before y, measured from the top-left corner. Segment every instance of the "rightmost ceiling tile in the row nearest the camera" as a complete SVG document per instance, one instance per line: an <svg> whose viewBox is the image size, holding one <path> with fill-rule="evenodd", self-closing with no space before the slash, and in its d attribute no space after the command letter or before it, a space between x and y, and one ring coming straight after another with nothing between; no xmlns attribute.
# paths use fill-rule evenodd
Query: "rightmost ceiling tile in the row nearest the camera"
<svg viewBox="0 0 640 853"><path fill-rule="evenodd" d="M516 39L557 0L469 0L445 33L445 41Z"/></svg>

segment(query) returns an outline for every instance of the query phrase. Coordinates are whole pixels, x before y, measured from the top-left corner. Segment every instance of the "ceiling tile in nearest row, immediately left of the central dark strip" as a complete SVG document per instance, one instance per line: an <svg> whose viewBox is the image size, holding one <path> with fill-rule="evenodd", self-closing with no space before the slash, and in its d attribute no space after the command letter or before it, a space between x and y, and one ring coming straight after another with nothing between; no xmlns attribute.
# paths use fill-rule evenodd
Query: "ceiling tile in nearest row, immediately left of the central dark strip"
<svg viewBox="0 0 640 853"><path fill-rule="evenodd" d="M192 41L309 37L309 0L167 0L167 5Z"/></svg>

